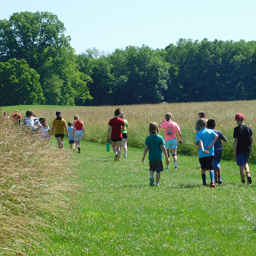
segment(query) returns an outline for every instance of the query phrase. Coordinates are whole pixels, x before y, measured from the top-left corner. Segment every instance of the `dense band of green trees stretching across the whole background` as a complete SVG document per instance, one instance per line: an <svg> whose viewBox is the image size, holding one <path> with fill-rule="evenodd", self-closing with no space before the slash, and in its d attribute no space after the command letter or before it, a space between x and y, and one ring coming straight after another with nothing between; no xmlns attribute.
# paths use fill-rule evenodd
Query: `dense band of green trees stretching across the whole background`
<svg viewBox="0 0 256 256"><path fill-rule="evenodd" d="M179 39L76 55L50 12L0 20L1 105L118 105L256 99L256 41Z"/></svg>

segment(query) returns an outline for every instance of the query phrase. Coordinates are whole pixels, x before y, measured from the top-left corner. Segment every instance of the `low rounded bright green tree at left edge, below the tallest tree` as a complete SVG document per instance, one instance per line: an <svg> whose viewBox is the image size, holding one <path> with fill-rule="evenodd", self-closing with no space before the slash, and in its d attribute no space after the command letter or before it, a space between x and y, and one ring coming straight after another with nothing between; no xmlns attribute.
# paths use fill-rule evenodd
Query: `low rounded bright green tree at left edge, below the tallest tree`
<svg viewBox="0 0 256 256"><path fill-rule="evenodd" d="M25 60L0 62L0 101L4 106L44 104L39 75Z"/></svg>

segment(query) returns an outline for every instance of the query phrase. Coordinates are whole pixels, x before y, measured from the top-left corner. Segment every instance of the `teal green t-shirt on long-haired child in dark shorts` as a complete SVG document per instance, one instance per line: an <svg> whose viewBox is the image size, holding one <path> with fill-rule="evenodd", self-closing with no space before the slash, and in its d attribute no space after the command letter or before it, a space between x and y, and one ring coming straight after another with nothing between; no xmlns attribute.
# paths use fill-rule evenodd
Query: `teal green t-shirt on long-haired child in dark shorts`
<svg viewBox="0 0 256 256"><path fill-rule="evenodd" d="M164 138L159 134L149 135L146 138L145 145L148 145L148 161L163 161L161 146L164 145Z"/></svg>

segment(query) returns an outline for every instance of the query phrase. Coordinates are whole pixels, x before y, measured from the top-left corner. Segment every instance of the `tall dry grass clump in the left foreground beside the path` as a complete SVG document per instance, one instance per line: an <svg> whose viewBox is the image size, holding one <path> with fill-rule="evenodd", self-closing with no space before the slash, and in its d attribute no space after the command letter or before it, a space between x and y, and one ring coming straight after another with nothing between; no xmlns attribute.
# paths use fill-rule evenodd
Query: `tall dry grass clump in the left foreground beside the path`
<svg viewBox="0 0 256 256"><path fill-rule="evenodd" d="M58 229L55 218L65 222L75 209L70 194L80 188L67 150L3 118L0 138L0 254L27 255L47 244L43 228Z"/></svg>

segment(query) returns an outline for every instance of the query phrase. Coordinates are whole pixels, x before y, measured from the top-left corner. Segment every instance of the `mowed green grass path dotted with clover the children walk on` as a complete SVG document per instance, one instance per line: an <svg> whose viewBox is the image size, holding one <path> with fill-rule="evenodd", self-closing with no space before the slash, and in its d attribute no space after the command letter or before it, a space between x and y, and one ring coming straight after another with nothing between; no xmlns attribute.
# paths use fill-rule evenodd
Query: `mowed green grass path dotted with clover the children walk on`
<svg viewBox="0 0 256 256"><path fill-rule="evenodd" d="M198 158L178 153L178 171L171 162L158 188L149 187L143 149L128 147L128 159L114 162L112 149L83 140L73 154L84 191L76 216L67 213L64 227L54 220L65 236L45 230L52 255L255 255L254 165L244 186L236 162L221 161L223 184L210 189Z"/></svg>

